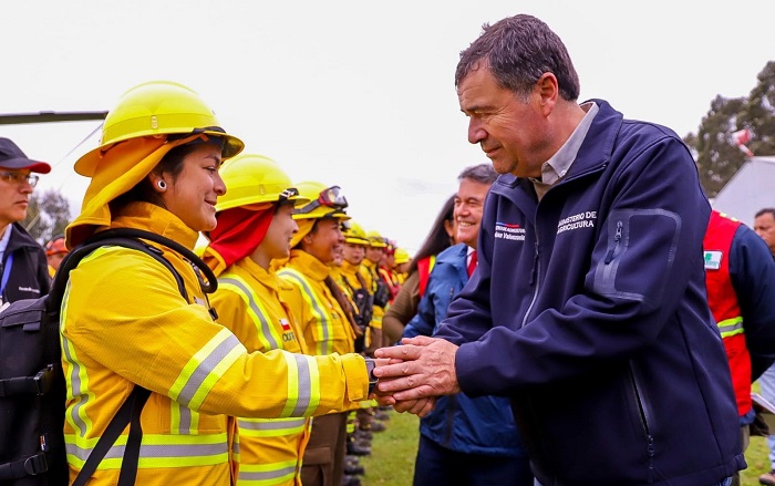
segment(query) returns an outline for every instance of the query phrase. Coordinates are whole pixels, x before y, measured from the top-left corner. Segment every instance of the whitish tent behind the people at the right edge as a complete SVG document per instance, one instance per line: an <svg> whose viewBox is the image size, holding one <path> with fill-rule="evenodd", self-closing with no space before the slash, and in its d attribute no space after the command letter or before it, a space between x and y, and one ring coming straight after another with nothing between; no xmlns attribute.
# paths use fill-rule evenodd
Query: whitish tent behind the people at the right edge
<svg viewBox="0 0 775 486"><path fill-rule="evenodd" d="M753 228L756 211L775 207L775 157L748 158L711 204Z"/></svg>

